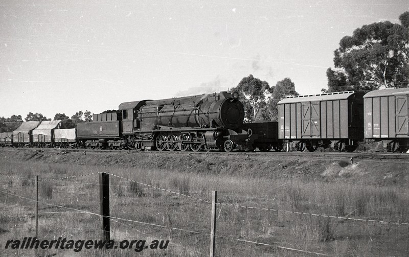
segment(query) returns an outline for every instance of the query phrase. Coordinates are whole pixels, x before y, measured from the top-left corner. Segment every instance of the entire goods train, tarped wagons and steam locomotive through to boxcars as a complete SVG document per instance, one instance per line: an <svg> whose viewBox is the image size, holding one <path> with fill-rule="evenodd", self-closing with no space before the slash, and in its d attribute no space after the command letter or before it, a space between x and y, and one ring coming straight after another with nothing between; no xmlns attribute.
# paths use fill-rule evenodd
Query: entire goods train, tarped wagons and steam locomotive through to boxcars
<svg viewBox="0 0 409 257"><path fill-rule="evenodd" d="M118 112L62 129L61 121L25 122L0 133L0 146L158 151L274 149L354 151L358 142L409 148L409 88L287 97L278 122L244 123L237 92L125 102Z"/></svg>

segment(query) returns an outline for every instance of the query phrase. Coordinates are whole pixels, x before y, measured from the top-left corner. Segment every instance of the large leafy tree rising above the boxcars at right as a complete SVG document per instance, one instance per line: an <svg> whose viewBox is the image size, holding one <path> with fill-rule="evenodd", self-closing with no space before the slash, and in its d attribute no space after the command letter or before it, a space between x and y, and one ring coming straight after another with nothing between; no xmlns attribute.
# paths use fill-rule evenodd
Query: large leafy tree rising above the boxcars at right
<svg viewBox="0 0 409 257"><path fill-rule="evenodd" d="M335 70L327 70L328 92L408 86L409 12L399 20L400 25L383 21L362 26L339 41Z"/></svg>

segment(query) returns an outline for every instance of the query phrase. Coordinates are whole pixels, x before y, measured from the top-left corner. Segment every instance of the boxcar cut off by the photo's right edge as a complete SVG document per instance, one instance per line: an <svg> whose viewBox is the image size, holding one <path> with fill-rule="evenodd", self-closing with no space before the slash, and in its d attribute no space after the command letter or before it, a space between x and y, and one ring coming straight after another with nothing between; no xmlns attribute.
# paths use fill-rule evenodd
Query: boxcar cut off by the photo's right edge
<svg viewBox="0 0 409 257"><path fill-rule="evenodd" d="M407 150L409 88L374 90L363 96L365 138L389 151Z"/></svg>

